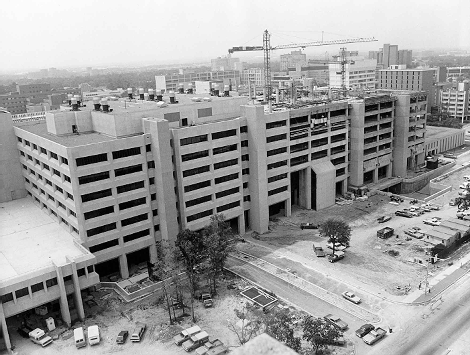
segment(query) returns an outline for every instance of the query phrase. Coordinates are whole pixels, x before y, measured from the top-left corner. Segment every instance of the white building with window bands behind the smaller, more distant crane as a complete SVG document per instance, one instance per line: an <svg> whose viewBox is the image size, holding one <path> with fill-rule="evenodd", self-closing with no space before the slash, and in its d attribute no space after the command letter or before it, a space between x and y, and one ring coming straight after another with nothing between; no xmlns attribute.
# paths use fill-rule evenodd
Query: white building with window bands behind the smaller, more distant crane
<svg viewBox="0 0 470 355"><path fill-rule="evenodd" d="M329 86L341 87L341 63L329 62ZM345 65L345 85L352 89L374 89L376 87L376 61L358 60Z"/></svg>

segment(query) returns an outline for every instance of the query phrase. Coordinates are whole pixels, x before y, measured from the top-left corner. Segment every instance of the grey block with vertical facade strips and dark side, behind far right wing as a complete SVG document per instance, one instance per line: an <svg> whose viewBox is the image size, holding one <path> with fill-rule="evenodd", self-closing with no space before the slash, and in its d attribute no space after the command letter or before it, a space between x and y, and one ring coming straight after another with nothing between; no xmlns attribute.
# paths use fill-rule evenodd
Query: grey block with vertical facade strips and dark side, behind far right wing
<svg viewBox="0 0 470 355"><path fill-rule="evenodd" d="M435 90L433 88L434 69L405 69L399 66L397 69L379 70L379 89L388 90L412 90L426 91L428 102L434 102ZM428 105L431 112L431 105Z"/></svg>

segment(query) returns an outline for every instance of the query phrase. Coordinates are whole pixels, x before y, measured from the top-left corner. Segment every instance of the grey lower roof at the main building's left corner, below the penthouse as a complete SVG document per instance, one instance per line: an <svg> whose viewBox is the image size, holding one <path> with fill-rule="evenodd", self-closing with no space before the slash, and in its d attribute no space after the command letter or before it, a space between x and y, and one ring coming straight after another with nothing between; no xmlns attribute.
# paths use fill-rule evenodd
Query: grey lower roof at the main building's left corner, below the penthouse
<svg viewBox="0 0 470 355"><path fill-rule="evenodd" d="M54 134L50 134L47 132L47 124L45 121L42 121L41 123L33 121L31 122L31 124L16 126L16 128L36 134L39 137L49 139L64 147L78 147L84 146L86 144L118 139L98 132L85 132L80 134L69 134L66 136L55 136Z"/></svg>

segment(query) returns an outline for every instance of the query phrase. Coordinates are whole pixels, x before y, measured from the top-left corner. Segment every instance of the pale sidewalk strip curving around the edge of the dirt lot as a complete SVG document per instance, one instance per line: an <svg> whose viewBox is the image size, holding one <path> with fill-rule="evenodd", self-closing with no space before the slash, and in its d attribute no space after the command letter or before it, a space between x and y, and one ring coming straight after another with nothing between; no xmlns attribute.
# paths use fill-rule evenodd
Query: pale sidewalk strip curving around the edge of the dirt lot
<svg viewBox="0 0 470 355"><path fill-rule="evenodd" d="M319 270L319 265L313 262L312 260L306 259L300 255L296 255L290 252L289 250L280 251L278 247L275 247L271 244L257 239L253 239L251 235L246 234L243 236L243 238L246 239L250 244L256 245L258 247L266 249L266 251L269 251L269 255L271 255L271 257L267 254L259 255L258 253L258 255L256 255L256 252L251 252L249 250L245 250L246 253L249 253L264 261L268 259L270 263L274 264L276 267L279 267L281 269L286 268L285 265L282 265L282 260L280 256L290 261L298 262L303 267L308 268L309 272L311 273L311 278L313 279L309 281L311 283L320 284L320 286L327 288L322 285L322 281L328 279L329 283L331 283L331 281L334 280L338 283L350 285L355 288L361 289L385 301L400 304L420 304L428 302L433 298L437 297L438 295L440 297L440 293L442 293L447 287L451 286L455 281L457 281L459 278L461 278L467 273L466 270L461 268L461 265L470 262L470 254L465 255L462 259L455 262L454 265L447 267L445 270L440 271L437 275L432 276L431 278L428 277L429 286L431 287L431 293L427 293L426 295L424 295L423 286L421 290L415 290L406 296L395 296L391 294L384 294L382 290L376 289L374 286L368 285L360 280L356 279L354 280L354 282L349 282L341 277L338 277L337 275L331 274L330 272L327 272L325 270ZM242 245L241 249L247 249L250 244L248 244L246 247L243 247Z"/></svg>

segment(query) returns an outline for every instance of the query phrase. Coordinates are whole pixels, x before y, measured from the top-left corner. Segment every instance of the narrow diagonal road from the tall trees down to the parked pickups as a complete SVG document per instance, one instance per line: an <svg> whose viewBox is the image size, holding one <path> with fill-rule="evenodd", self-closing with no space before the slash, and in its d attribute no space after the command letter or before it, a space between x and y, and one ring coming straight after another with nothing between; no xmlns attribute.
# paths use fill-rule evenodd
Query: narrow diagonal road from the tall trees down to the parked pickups
<svg viewBox="0 0 470 355"><path fill-rule="evenodd" d="M314 316L323 317L329 313L339 316L349 325L345 331L345 335L354 342L356 354L365 354L366 345L357 338L356 335L354 335L355 330L365 323L363 320L351 316L342 309L338 309L334 305L323 301L312 294L303 291L302 289L293 286L254 265L251 265L250 263L228 256L226 267L252 282L255 282L263 288L274 292L278 297L295 304L297 307Z"/></svg>

